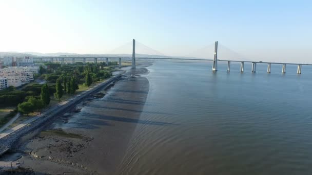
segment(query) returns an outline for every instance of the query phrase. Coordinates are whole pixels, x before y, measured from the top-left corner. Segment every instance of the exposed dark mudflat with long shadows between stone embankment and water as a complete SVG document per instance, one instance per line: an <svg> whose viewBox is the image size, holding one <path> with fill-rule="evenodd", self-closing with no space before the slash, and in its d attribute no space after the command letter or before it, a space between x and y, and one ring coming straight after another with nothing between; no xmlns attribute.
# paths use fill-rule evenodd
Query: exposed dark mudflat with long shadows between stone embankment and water
<svg viewBox="0 0 312 175"><path fill-rule="evenodd" d="M34 172L112 174L136 125L147 122L139 119L149 91L149 82L142 74L148 71L127 71L110 90L77 104L3 159L17 160Z"/></svg>

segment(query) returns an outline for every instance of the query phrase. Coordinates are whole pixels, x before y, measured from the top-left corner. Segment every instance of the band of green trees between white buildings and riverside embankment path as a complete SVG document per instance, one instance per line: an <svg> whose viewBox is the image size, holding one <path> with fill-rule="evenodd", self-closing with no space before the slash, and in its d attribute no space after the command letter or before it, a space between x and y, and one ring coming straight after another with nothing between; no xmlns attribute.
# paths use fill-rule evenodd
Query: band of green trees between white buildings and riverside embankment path
<svg viewBox="0 0 312 175"><path fill-rule="evenodd" d="M109 62L109 65L116 64L117 62ZM32 84L22 90L9 87L0 92L0 106L17 106L19 113L29 114L49 105L51 95L60 100L64 94L75 94L79 89L78 84L90 86L93 82L107 79L112 75L112 67L105 68L107 67L105 62L86 65L81 63L45 65L46 68L40 66L40 74L50 85Z"/></svg>

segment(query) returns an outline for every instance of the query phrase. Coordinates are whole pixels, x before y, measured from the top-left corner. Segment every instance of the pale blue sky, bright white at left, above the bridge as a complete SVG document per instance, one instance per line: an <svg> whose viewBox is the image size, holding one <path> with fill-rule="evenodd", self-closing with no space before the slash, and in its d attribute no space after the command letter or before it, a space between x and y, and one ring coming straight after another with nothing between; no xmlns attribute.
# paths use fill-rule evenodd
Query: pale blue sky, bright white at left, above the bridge
<svg viewBox="0 0 312 175"><path fill-rule="evenodd" d="M0 24L0 52L106 54L134 38L211 58L218 40L232 58L312 63L311 1L0 0Z"/></svg>

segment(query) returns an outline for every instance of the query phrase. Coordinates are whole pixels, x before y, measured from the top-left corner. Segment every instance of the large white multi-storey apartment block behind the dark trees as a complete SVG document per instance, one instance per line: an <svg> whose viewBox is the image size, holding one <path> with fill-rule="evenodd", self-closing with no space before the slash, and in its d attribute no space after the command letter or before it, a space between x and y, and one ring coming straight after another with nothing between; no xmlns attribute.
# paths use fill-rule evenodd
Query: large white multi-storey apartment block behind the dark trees
<svg viewBox="0 0 312 175"><path fill-rule="evenodd" d="M34 80L34 74L39 73L39 67L8 67L0 69L0 78L7 78L8 86L21 86Z"/></svg>

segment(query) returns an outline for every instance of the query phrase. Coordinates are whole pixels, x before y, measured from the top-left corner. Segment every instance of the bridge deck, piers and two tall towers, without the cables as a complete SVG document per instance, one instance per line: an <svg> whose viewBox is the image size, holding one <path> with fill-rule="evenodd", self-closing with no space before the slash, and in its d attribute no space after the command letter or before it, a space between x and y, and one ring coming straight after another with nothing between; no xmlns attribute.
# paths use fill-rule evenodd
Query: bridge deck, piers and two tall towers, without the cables
<svg viewBox="0 0 312 175"><path fill-rule="evenodd" d="M34 60L43 62L43 60L49 60L53 62L54 60L61 60L61 63L64 64L65 60L69 60L71 63L75 63L76 60L82 60L83 63L86 63L87 59L93 59L94 63L98 61L105 60L108 65L109 59L119 59L119 67L122 67L122 59L131 59L131 68L135 69L135 60L136 59L165 59L165 60L193 60L193 61L212 61L212 71L218 71L218 62L227 62L227 71L230 71L231 62L240 62L240 72L244 72L244 64L246 62L251 63L251 72L256 73L257 64L267 64L267 73L271 72L271 64L281 64L282 65L282 73L286 73L286 65L293 64L298 65L297 74L301 74L302 65L312 65L312 64L303 64L303 63L285 63L285 62L262 62L262 61L241 61L241 60L225 60L218 59L218 41L214 42L214 54L213 59L200 59L200 58L179 58L179 57L136 57L135 56L135 39L132 40L132 57L67 57L67 56L59 56L59 57L34 57Z"/></svg>

